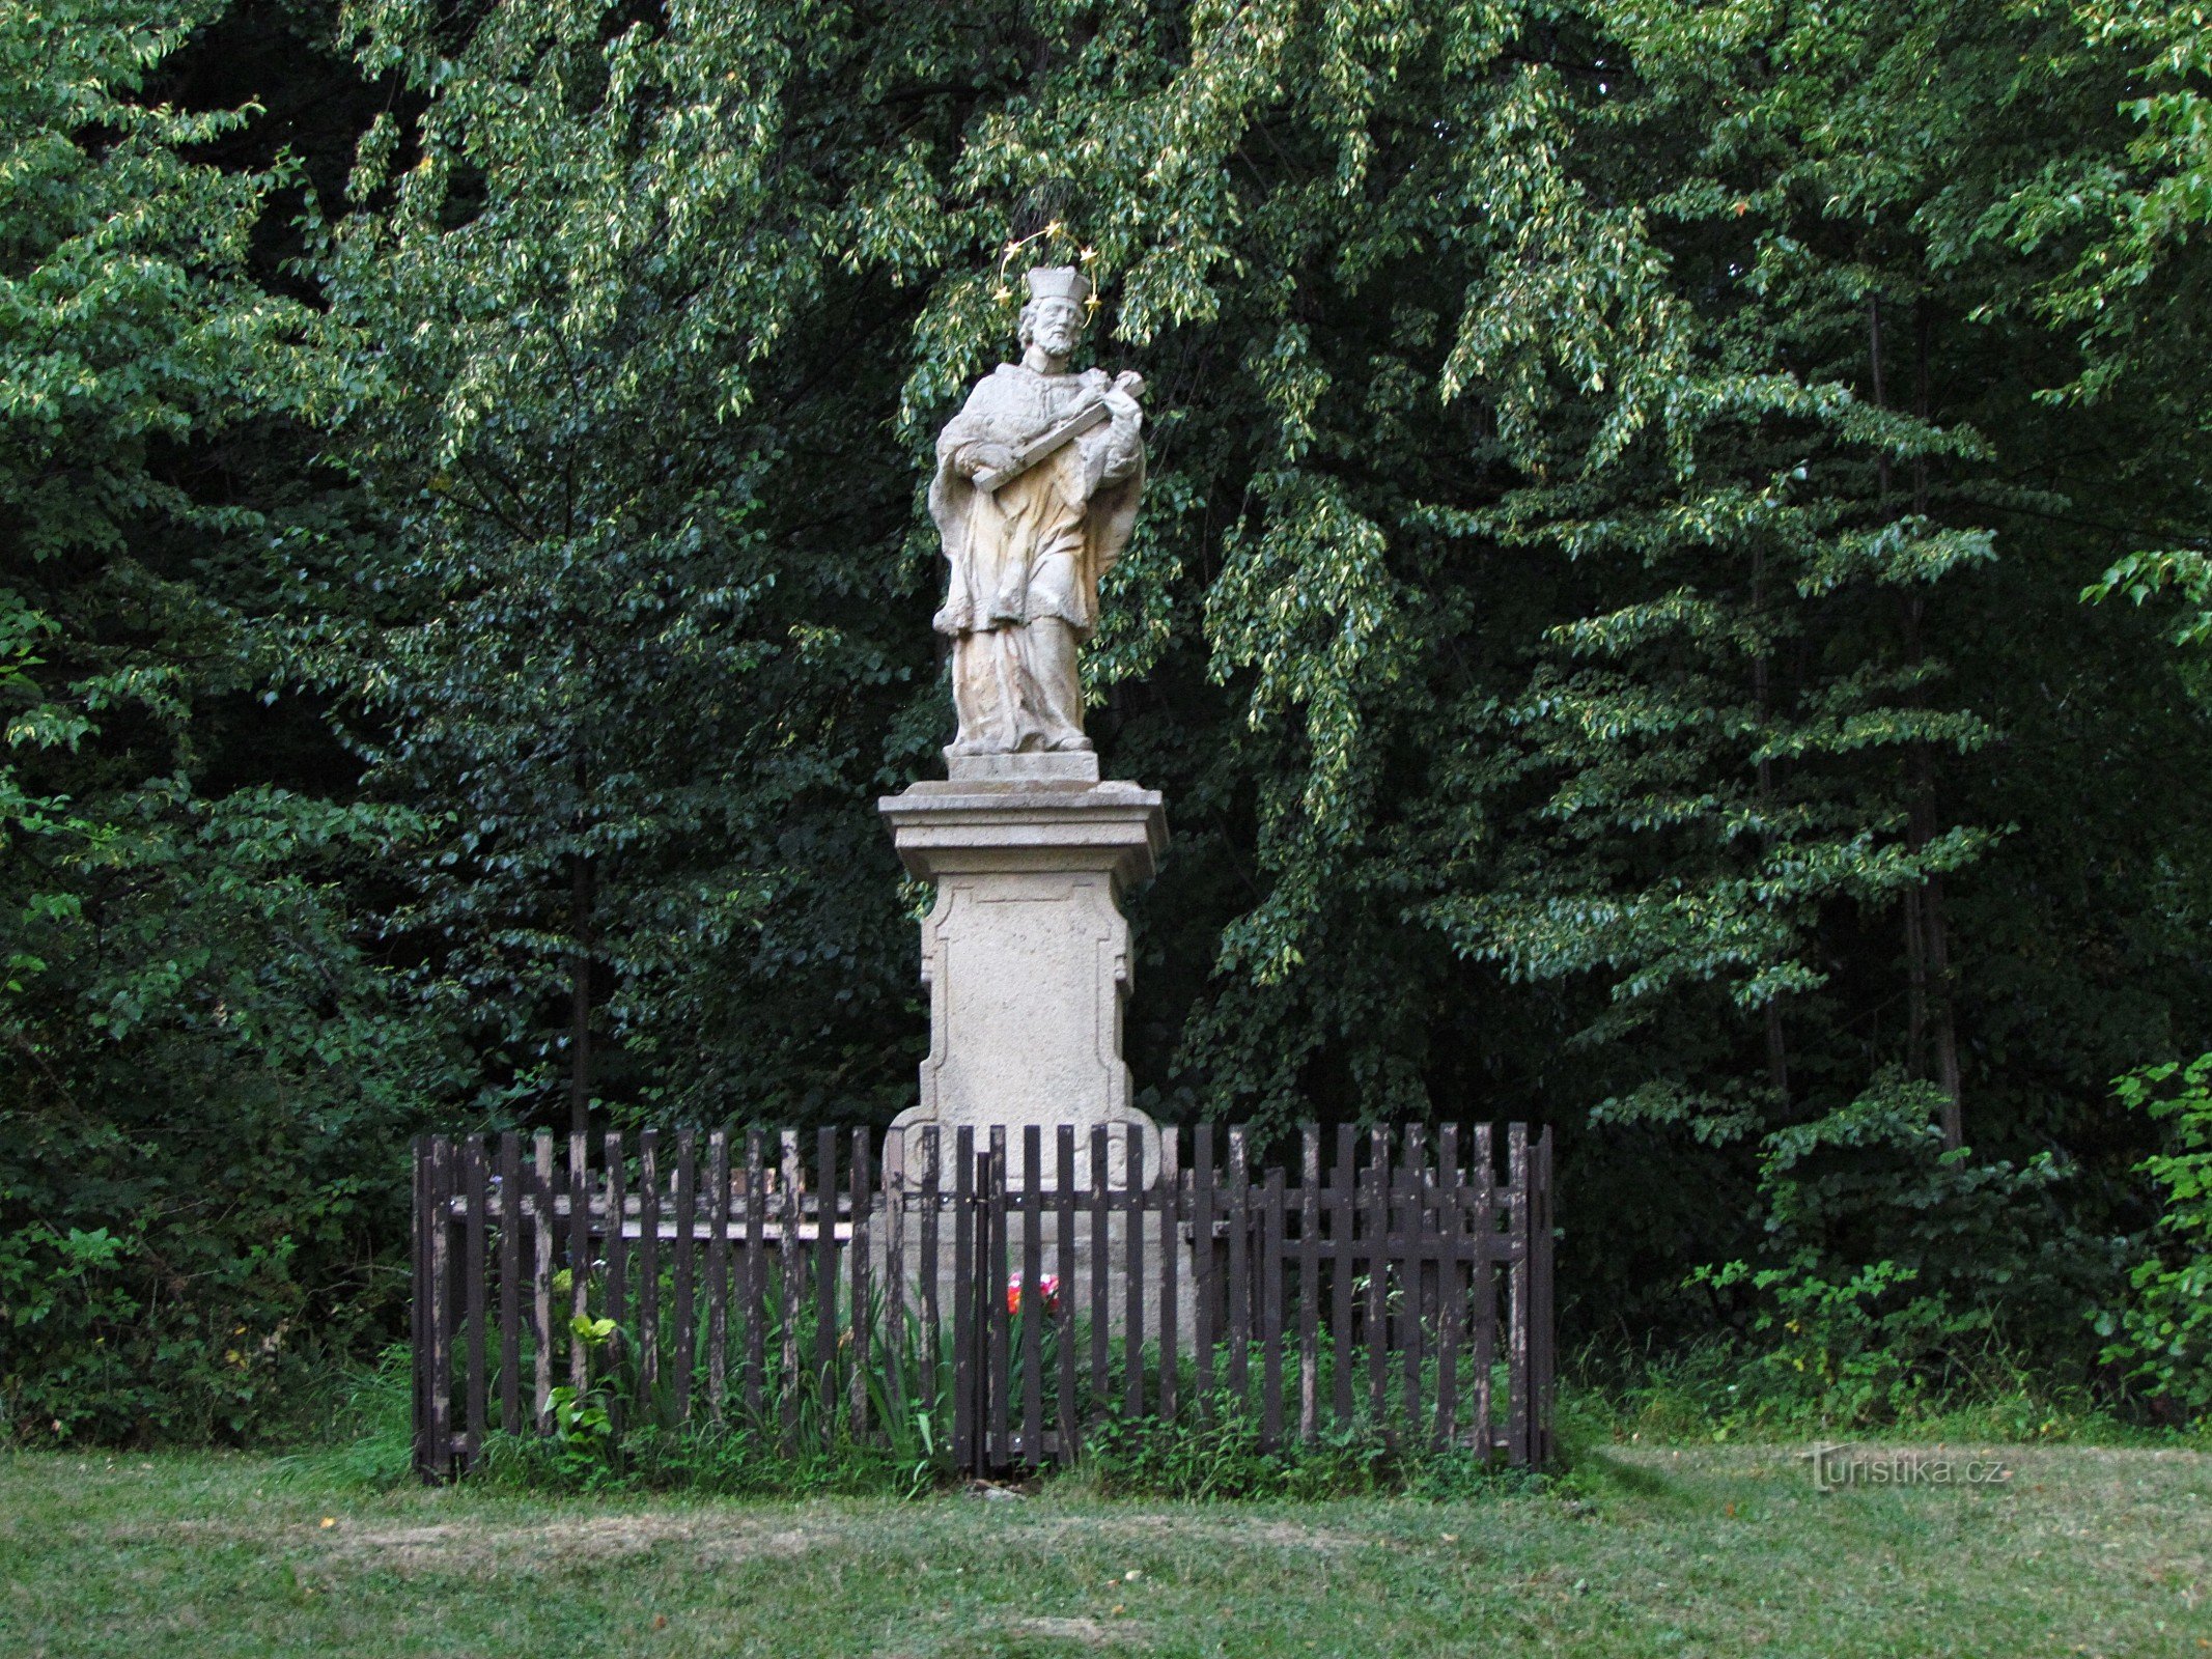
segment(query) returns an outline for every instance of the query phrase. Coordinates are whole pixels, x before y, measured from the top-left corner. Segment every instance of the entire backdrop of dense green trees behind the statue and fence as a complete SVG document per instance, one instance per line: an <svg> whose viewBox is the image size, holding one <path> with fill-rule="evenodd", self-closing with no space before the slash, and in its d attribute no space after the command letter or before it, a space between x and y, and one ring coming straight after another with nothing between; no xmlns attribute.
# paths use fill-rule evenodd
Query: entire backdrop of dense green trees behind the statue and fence
<svg viewBox="0 0 2212 1659"><path fill-rule="evenodd" d="M907 1104L920 480L1084 254L1146 1104L1553 1121L1571 1327L1743 1261L1847 1416L2079 1363L2212 1044L2075 604L2205 608L2192 9L237 7L0 15L11 1433L372 1352L420 1121Z"/></svg>

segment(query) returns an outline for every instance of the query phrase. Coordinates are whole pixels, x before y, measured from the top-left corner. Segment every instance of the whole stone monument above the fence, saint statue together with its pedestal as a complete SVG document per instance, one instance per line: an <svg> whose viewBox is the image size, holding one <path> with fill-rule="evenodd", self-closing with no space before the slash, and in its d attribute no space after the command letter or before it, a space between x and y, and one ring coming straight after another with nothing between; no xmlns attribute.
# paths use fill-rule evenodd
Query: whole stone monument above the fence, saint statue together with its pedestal
<svg viewBox="0 0 2212 1659"><path fill-rule="evenodd" d="M1042 1126L1051 1146L1071 1124L1088 1181L1091 1128L1159 1146L1121 1062L1121 894L1152 878L1166 814L1157 792L1099 781L1077 672L1099 577L1144 491L1144 380L1068 372L1095 305L1079 270L1026 283L1022 361L998 365L945 425L929 484L947 562L933 626L953 644L960 732L945 783L880 803L900 860L938 889L922 922L929 1060L885 1157L894 1168L922 1124L973 1126L978 1141L1004 1124L1022 1179L1022 1128ZM1110 1148L1119 1183L1126 1137Z"/></svg>

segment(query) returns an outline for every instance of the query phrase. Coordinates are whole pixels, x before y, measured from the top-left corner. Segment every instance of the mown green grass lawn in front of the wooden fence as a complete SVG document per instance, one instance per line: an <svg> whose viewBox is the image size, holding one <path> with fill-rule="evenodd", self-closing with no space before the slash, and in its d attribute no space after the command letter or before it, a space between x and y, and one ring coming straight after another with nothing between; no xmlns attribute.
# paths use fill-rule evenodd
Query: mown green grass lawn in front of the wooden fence
<svg viewBox="0 0 2212 1659"><path fill-rule="evenodd" d="M2212 1458L1984 1455L2006 1486L1820 1493L1798 1449L1615 1447L1548 1493L1179 1506L1073 1482L540 1500L13 1453L0 1655L2212 1652Z"/></svg>

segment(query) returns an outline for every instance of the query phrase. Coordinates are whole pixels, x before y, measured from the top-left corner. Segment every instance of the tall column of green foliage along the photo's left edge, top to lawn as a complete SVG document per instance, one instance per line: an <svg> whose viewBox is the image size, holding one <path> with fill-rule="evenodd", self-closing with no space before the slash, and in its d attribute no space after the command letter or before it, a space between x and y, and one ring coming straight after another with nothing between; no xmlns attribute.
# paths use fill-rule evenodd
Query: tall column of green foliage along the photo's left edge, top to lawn
<svg viewBox="0 0 2212 1659"><path fill-rule="evenodd" d="M210 453L288 407L248 272L283 168L199 159L164 62L221 7L0 13L0 1433L206 1440L389 1318L442 1086L349 922L420 825L232 772L265 515ZM219 471L219 469L215 469Z"/></svg>

